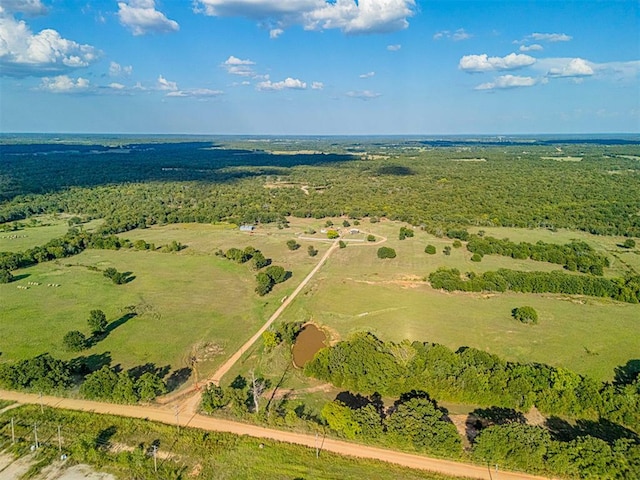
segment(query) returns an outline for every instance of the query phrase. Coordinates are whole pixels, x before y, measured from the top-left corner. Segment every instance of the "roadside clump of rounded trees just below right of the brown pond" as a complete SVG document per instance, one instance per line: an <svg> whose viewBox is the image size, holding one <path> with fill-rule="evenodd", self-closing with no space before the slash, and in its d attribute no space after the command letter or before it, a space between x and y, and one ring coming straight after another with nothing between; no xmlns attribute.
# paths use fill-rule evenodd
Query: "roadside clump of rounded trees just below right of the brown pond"
<svg viewBox="0 0 640 480"><path fill-rule="evenodd" d="M334 400L322 408L322 417L338 435L431 455L462 454L456 427L424 392L403 394L388 410L379 397L355 400L354 405Z"/></svg>

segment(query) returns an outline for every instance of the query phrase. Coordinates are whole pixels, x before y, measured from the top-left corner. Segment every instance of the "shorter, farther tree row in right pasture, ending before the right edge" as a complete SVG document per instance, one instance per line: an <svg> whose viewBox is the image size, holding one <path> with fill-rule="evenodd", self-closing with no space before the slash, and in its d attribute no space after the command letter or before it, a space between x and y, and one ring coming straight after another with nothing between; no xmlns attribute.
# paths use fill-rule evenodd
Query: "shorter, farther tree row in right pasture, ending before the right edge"
<svg viewBox="0 0 640 480"><path fill-rule="evenodd" d="M484 255L503 255L511 258L530 258L539 262L563 265L569 271L602 275L609 266L609 259L596 252L585 242L572 241L564 245L539 241L535 244L514 243L508 239L471 235L467 250L481 257Z"/></svg>

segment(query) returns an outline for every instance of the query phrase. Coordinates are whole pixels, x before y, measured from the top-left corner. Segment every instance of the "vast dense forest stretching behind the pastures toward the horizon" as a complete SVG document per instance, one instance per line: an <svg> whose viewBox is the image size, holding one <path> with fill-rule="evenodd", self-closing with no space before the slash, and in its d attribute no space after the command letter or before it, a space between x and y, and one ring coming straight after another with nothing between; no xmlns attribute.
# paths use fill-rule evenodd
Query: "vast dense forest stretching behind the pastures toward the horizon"
<svg viewBox="0 0 640 480"><path fill-rule="evenodd" d="M5 155L0 223L45 212L82 213L105 218L105 231L118 233L177 222L348 215L386 217L434 232L486 225L640 236L637 161L613 156L631 147L604 152L582 145L582 162L541 160L549 147L536 146L527 155L521 147L474 147L486 162L452 162L459 152L447 147L420 152L417 159L412 150L410 156L401 151L392 159L366 160L202 147ZM265 188L277 180L309 185L309 195L299 188ZM388 202L389 195L402 201Z"/></svg>

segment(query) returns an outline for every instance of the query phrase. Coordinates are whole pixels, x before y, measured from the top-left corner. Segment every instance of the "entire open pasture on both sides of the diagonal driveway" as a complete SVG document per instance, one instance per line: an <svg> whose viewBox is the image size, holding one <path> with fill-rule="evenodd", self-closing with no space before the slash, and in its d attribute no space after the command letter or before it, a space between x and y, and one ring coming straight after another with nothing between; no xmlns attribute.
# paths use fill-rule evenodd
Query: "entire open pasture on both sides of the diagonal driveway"
<svg viewBox="0 0 640 480"><path fill-rule="evenodd" d="M332 220L342 228L342 219ZM88 334L86 319L89 311L97 308L107 314L110 322L116 322L114 325L122 324L83 355L108 354L114 364L125 367L151 362L177 369L186 366L186 358L195 351L207 360L199 372L206 375L249 338L313 268L329 246L326 234L321 233L325 222L292 219L290 228L259 227L251 234L225 224L140 229L122 236L132 241L144 239L157 246L176 240L187 248L179 253L87 250L75 257L17 271L17 282L0 285L0 360L43 352L62 358L76 356L63 350L62 337L74 329ZM56 228L62 227L59 224ZM599 379L612 378L616 366L637 358L640 306L561 295L435 291L424 279L440 266L462 272L503 267L550 271L561 267L497 255L485 256L482 262L475 263L464 246L452 248L451 255L446 256L442 250L452 246L451 239L436 238L416 229L415 237L400 241L399 227L399 223L388 221L354 225L352 228L361 233L345 236L352 242L334 252L283 319L313 319L332 332L334 341L355 331L371 330L388 340L408 338L451 348L468 345L508 360L564 366ZM38 238L37 243L44 243L52 236L52 228L26 230L30 240ZM310 228L317 233L306 234ZM629 266L640 268L640 255L619 247L620 238L566 231L485 230L488 235L532 243L566 243L578 238L616 255L611 256L609 275L621 275ZM378 239L388 238L385 245L397 251L397 258L379 260L379 245L357 241L368 233ZM298 239L301 248L288 250L286 242L290 239ZM436 246L435 255L424 253L428 244ZM255 272L248 265L237 265L215 255L220 249L248 245L290 270L293 277L268 296L258 297L253 292ZM319 250L317 257L309 257L309 245ZM104 270L111 266L132 272L134 280L113 285L100 271L87 268ZM60 287L48 287L50 283ZM523 305L536 308L540 315L538 325L526 326L511 319L511 309ZM126 307L131 306L138 315L125 322ZM274 375L278 375L277 371ZM294 386L305 385L303 378L295 380L294 376L292 381Z"/></svg>

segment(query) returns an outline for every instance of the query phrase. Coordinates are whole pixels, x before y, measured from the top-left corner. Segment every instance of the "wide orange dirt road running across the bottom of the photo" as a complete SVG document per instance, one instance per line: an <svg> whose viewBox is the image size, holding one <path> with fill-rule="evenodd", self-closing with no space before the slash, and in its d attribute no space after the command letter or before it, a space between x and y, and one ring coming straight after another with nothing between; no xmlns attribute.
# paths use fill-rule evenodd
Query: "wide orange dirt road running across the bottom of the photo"
<svg viewBox="0 0 640 480"><path fill-rule="evenodd" d="M176 424L175 413L173 409L168 407L161 408L156 406L143 405L115 405L109 403L93 402L89 400L76 400L71 398L57 398L49 396L40 397L39 395L5 390L0 390L0 398L5 400L13 400L20 403L42 404L56 408L104 413L131 418L145 418L148 420L154 420L170 425ZM247 425L244 423L237 423L229 420L210 418L204 415L193 415L189 418L188 421L182 421L180 424L182 426L188 425L190 427L201 428L203 430L229 432L236 435L248 435L257 438L268 438L280 442L305 445L310 448L315 448L316 446L316 438L313 435L272 430L256 425ZM395 452L383 448L368 447L365 445L358 445L329 438L320 439L318 443L322 443L322 451L334 452L350 457L377 459L409 468L430 470L453 476L481 478L487 480L544 479L544 477L537 477L524 473L506 472L502 470L496 472L495 469L489 471L487 467L481 467L478 465L470 465L452 462L449 460L428 458L420 455Z"/></svg>

